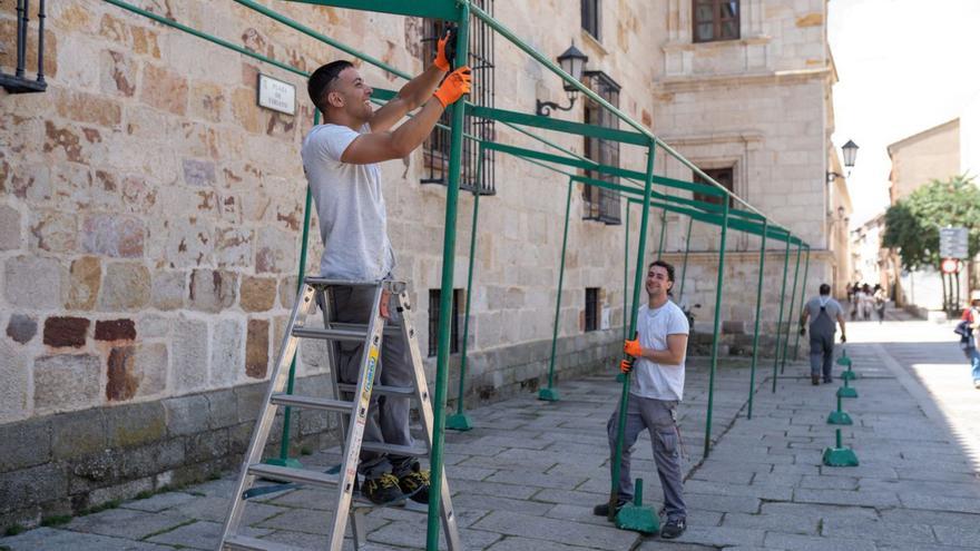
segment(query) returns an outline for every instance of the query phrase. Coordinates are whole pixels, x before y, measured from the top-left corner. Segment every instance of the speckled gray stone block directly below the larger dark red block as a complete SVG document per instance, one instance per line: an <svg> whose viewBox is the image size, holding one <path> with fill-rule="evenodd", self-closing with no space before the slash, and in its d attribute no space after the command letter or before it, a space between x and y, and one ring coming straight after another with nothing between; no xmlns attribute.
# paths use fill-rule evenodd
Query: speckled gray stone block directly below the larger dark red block
<svg viewBox="0 0 980 551"><path fill-rule="evenodd" d="M42 356L35 361L38 413L79 410L99 402L101 362L91 354Z"/></svg>

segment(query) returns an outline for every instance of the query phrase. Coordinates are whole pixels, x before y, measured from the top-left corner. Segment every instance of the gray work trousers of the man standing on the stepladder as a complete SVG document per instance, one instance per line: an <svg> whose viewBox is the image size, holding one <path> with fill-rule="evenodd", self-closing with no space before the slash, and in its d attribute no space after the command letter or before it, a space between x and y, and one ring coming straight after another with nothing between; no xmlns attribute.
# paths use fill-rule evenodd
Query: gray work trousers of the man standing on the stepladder
<svg viewBox="0 0 980 551"><path fill-rule="evenodd" d="M340 323L366 324L374 307L373 287L335 287L333 289L333 318ZM388 324L401 324L398 312L398 296L392 295ZM337 374L342 383L356 384L361 368L363 343L336 343ZM374 384L386 386L413 386L414 376L412 362L404 340L388 336L381 342L381 362L374 372ZM364 426L364 442L384 442L386 444L412 445L409 430L409 410L411 399L398 396L380 396L371 394L367 409L367 423ZM386 455L376 452L361 452L357 472L366 479L376 479L384 473L395 476L408 474L414 464L413 457Z"/></svg>

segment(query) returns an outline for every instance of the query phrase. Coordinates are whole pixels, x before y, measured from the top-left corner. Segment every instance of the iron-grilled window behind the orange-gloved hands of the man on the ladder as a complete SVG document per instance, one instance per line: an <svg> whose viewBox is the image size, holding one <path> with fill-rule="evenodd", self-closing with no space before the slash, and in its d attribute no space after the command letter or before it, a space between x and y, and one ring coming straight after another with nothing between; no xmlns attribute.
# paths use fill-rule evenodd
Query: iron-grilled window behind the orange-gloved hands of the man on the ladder
<svg viewBox="0 0 980 551"><path fill-rule="evenodd" d="M473 0L473 3L493 14L493 0ZM438 19L424 20L424 48L422 48L423 61L429 63L435 58L438 37L445 35L448 21ZM486 22L474 19L470 23L470 57L469 65L473 70L473 82L467 100L473 105L493 107L494 104L494 75L493 75L493 30ZM450 126L450 114L447 109L440 117L439 122ZM467 117L463 122L463 131L483 140L493 140L496 137L494 121ZM422 146L422 155L425 173L422 184L449 184L449 148L450 132L443 128L435 128ZM480 157L480 146L469 139L463 139L462 165L460 166L460 189L468 191L479 190L480 195L494 195L496 171L493 169L493 151L483 151Z"/></svg>

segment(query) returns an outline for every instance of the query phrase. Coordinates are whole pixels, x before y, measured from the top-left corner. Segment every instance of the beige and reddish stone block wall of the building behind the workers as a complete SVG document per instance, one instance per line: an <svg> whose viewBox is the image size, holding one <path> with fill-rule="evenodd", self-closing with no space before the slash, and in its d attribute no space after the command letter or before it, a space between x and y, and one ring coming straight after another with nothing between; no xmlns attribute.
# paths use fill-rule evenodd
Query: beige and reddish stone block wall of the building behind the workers
<svg viewBox="0 0 980 551"><path fill-rule="evenodd" d="M300 71L347 57L233 2L220 9L135 3ZM626 114L704 166L736 163L736 191L820 247L825 228L814 205L823 197L826 158L824 2L785 0L763 10L761 0L745 1L743 39L729 45L689 43L689 6L604 2L598 37L580 29L578 10L552 1L506 9L501 2L497 16L552 59L574 40L590 70L623 83ZM418 19L294 2L274 8L405 71L423 67ZM48 9L48 91L0 92L0 431L23 434L39 450L26 456L18 439L0 440L0 493L52 496L2 513L17 521L234 466L249 419L239 410L255 405L239 396L268 377L295 295L305 190L298 149L313 120L298 75L98 0L49 2ZM536 28L542 10L556 29L547 36ZM13 51L12 17L0 12L4 68ZM497 107L532 112L536 98L564 100L557 77L504 40L496 43ZM402 83L363 63L360 70L379 88ZM259 72L296 86L295 116L257 107ZM581 120L581 104L556 116ZM549 138L582 150L579 137ZM501 125L494 139L548 149ZM657 155L658 174L690 177L664 151ZM643 170L645 151L623 146L620 164ZM502 155L494 165L498 193L480 206L468 400L541 383L558 298L567 177ZM385 163L382 171L395 275L410 282L424 344L428 292L440 286L445 190L420 184L421 151ZM472 197L463 195L459 208L453 268L462 287ZM582 220L582 213L576 189L558 319L559 380L616 354L624 297L631 296L620 282L627 229L636 247L636 209L628 228ZM685 222L668 217L666 250L678 264ZM651 224L647 257L657 230ZM713 232L696 227L690 235L686 293L703 305L699 324L714 314ZM313 234L307 269L321 253ZM756 243L728 242L731 287L722 316L733 322L732 335L744 333L754 316L745 305L754 304ZM773 258L778 247L773 250L767 297L777 293L781 274ZM635 257L631 250L629 266ZM811 282L821 269L812 268ZM585 332L588 287L600 289L608 319L597 332ZM767 321L775 318L773 301L765 304ZM433 364L427 360L430 377ZM318 381L327 371L323 350L304 345L300 376ZM228 416L182 424L171 410L185 403L195 412L218 404ZM124 442L118 434L128 429L117 425L130 417L145 423ZM315 444L327 425L311 423L303 437ZM89 432L72 433L69 443L56 437L75 425ZM208 443L199 446L202 439ZM209 451L195 455L199 449ZM140 463L148 457L158 464ZM86 474L96 470L84 466L91 462L109 471Z"/></svg>

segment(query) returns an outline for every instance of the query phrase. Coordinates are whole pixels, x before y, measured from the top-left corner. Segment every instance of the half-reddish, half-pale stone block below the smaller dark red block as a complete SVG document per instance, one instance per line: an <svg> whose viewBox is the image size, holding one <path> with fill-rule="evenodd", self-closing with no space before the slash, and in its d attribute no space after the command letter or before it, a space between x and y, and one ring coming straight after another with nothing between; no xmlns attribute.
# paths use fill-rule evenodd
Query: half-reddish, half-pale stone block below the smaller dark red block
<svg viewBox="0 0 980 551"><path fill-rule="evenodd" d="M126 401L151 396L167 386L167 345L116 346L107 360L106 399Z"/></svg>

